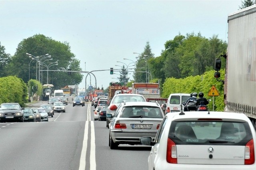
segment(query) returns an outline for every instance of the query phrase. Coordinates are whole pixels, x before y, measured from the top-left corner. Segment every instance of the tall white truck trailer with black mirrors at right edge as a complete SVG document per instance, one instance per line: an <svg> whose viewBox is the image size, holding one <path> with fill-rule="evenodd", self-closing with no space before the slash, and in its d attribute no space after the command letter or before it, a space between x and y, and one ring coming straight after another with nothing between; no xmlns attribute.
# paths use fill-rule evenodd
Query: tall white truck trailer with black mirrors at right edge
<svg viewBox="0 0 256 170"><path fill-rule="evenodd" d="M224 80L221 58L216 59L214 77L224 83L227 112L245 114L256 128L256 5L228 16L228 50Z"/></svg>

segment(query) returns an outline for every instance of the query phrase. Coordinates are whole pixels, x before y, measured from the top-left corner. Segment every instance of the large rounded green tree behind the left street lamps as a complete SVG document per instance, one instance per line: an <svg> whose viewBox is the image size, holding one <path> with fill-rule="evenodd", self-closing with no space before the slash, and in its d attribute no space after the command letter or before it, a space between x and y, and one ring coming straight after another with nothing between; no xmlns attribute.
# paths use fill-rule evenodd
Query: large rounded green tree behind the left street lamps
<svg viewBox="0 0 256 170"><path fill-rule="evenodd" d="M42 34L36 34L22 40L22 42L18 44L16 52L14 56L11 57L11 62L8 65L8 67L10 67L9 74L16 75L25 82L28 82L29 78L36 79L36 74L39 74L38 69L36 71L36 60L31 61L26 53L30 53L33 56L41 56L46 53L51 55L52 60L41 60L41 62L44 62L46 65L58 61L58 66L54 65L50 67L49 70L64 71L70 68L72 71L82 71L80 61L78 61L75 55L70 51L68 42L58 42ZM40 59L42 58L43 57ZM47 70L46 66L42 66L41 68ZM60 89L66 85L79 84L82 81L83 75L81 75L81 73L72 72L72 75L68 75L66 72L60 71L48 71L49 83L54 84L55 89ZM42 84L46 84L47 71L42 71L41 77L43 78Z"/></svg>

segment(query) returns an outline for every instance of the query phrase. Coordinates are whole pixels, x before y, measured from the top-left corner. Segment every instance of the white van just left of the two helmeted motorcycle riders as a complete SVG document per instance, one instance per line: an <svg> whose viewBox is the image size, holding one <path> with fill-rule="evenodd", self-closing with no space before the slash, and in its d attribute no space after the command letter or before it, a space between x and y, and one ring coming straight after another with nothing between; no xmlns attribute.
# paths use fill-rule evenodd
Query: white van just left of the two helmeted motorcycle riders
<svg viewBox="0 0 256 170"><path fill-rule="evenodd" d="M188 98L190 98L190 94L187 93L173 93L170 94L166 103L165 114L169 112L180 112L183 102L185 102ZM184 110L184 106L182 105L182 110Z"/></svg>

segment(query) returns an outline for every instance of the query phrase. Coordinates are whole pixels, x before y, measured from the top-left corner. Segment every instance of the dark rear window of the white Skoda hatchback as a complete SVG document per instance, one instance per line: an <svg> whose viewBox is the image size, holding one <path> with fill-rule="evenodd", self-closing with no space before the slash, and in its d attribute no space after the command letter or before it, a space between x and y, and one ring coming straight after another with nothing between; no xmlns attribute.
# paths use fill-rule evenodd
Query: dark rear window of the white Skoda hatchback
<svg viewBox="0 0 256 170"><path fill-rule="evenodd" d="M176 144L242 145L252 139L246 122L173 121L169 138Z"/></svg>

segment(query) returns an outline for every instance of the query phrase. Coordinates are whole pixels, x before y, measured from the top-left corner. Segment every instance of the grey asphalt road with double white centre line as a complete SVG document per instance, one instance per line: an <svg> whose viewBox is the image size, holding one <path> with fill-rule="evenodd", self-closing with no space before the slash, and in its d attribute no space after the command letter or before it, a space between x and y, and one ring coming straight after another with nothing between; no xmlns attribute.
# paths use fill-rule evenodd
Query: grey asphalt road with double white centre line
<svg viewBox="0 0 256 170"><path fill-rule="evenodd" d="M34 107L44 104L40 102ZM49 122L0 123L0 166L4 170L146 170L151 147L108 146L105 121L94 107L66 106Z"/></svg>

